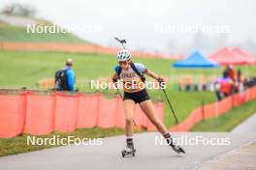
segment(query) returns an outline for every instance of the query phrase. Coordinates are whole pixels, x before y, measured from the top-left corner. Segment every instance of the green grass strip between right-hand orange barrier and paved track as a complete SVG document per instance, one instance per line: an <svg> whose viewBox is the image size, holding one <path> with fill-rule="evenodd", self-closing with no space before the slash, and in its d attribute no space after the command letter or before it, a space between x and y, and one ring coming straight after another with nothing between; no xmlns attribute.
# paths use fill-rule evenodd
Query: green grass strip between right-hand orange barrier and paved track
<svg viewBox="0 0 256 170"><path fill-rule="evenodd" d="M256 112L256 100L235 107L219 117L210 118L192 128L192 131L230 131Z"/></svg>

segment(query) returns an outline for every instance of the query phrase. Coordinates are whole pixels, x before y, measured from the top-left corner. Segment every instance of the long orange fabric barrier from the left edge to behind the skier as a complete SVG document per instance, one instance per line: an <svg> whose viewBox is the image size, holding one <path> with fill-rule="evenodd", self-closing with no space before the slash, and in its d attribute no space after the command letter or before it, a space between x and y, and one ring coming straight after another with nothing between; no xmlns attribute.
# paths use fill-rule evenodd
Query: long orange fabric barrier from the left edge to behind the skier
<svg viewBox="0 0 256 170"><path fill-rule="evenodd" d="M154 105L163 120L164 104ZM138 105L135 122L139 127L154 129ZM22 132L44 135L54 130L68 132L93 127L124 128L122 99L106 99L102 94L0 94L0 137L14 137Z"/></svg>

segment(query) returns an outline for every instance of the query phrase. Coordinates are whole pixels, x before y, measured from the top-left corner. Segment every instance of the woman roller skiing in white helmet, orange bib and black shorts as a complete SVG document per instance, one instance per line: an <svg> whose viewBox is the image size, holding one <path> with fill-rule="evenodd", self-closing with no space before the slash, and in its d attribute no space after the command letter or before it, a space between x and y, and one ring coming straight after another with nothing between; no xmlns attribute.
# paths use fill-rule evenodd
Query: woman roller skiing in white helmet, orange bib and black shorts
<svg viewBox="0 0 256 170"><path fill-rule="evenodd" d="M146 117L164 136L174 151L176 153L185 153L182 148L173 143L170 132L158 118L153 103L144 88L144 74L156 79L160 84L163 83L163 79L153 71L146 69L143 64L133 63L131 61L131 54L126 49L122 49L118 52L117 61L119 65L114 67L115 73L112 76L112 80L116 83L117 79L121 79L124 88L123 105L127 147L126 150L122 152L122 156L134 156L136 152L133 143L133 120L136 103L140 104Z"/></svg>

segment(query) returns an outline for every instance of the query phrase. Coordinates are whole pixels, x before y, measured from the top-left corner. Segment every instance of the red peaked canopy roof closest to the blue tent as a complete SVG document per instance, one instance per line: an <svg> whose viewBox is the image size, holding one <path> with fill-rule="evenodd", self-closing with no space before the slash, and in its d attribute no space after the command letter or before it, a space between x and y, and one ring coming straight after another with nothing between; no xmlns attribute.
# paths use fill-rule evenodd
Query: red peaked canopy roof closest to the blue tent
<svg viewBox="0 0 256 170"><path fill-rule="evenodd" d="M227 47L221 48L219 51L208 57L220 65L244 65L246 61Z"/></svg>

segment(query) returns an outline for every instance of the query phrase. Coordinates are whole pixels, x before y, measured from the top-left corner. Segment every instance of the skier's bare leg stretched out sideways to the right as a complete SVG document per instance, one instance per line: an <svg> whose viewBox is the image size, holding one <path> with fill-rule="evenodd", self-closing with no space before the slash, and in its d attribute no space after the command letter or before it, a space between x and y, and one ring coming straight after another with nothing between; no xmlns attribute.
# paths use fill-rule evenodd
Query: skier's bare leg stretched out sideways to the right
<svg viewBox="0 0 256 170"><path fill-rule="evenodd" d="M163 135L168 133L168 130L165 127L165 125L158 118L151 99L144 100L143 102L140 103L140 106L143 109L144 114L146 115L146 117L158 129L159 132L161 132Z"/></svg>

